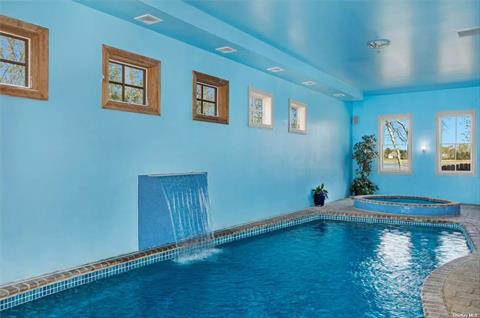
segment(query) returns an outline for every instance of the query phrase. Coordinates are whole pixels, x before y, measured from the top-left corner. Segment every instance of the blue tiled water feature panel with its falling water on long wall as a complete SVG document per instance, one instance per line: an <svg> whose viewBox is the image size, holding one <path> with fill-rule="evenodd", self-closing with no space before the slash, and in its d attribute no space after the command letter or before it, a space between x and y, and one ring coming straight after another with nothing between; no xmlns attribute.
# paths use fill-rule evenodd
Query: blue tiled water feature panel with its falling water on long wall
<svg viewBox="0 0 480 318"><path fill-rule="evenodd" d="M206 173L143 175L138 181L139 250L189 241L185 253L192 254L213 245Z"/></svg>

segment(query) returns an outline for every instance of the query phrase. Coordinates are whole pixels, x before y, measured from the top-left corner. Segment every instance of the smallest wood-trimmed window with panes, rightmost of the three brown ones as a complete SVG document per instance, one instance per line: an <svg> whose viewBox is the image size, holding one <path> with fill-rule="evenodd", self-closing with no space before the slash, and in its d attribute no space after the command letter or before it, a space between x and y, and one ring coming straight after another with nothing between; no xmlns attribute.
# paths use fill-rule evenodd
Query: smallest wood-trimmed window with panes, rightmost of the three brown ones
<svg viewBox="0 0 480 318"><path fill-rule="evenodd" d="M228 124L228 81L193 72L194 120Z"/></svg>

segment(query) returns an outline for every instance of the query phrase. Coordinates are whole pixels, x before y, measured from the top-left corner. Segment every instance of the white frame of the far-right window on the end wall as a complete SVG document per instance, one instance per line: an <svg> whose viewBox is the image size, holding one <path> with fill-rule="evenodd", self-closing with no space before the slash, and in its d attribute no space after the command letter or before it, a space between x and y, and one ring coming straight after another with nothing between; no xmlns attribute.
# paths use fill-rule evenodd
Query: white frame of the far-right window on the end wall
<svg viewBox="0 0 480 318"><path fill-rule="evenodd" d="M470 171L443 171L441 166L442 160L442 131L441 131L441 119L442 117L458 117L458 116L472 116L472 140L471 140L471 157L472 163L470 166ZM476 150L477 150L477 140L476 140L476 132L477 132L477 120L476 114L474 110L458 110L458 111L448 111L448 112L439 112L436 115L436 149L435 149L435 156L437 162L436 172L437 175L441 176L475 176L476 171Z"/></svg>

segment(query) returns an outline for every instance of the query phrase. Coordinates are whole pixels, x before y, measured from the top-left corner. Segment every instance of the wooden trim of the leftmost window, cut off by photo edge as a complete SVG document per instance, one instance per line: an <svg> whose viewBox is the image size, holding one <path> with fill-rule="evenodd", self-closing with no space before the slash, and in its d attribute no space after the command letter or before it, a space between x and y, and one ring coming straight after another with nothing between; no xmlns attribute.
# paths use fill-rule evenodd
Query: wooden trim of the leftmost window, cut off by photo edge
<svg viewBox="0 0 480 318"><path fill-rule="evenodd" d="M0 84L0 94L48 100L48 29L0 15L0 32L28 39L28 87Z"/></svg>

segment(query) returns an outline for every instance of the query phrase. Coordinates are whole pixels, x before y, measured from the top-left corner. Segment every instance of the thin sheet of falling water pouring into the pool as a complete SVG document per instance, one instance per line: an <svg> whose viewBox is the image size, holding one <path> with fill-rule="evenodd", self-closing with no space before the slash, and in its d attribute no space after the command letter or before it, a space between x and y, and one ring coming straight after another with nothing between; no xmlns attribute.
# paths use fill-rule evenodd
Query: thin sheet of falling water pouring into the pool
<svg viewBox="0 0 480 318"><path fill-rule="evenodd" d="M161 187L177 244L177 261L188 263L216 253L208 213L207 174L165 176Z"/></svg>

